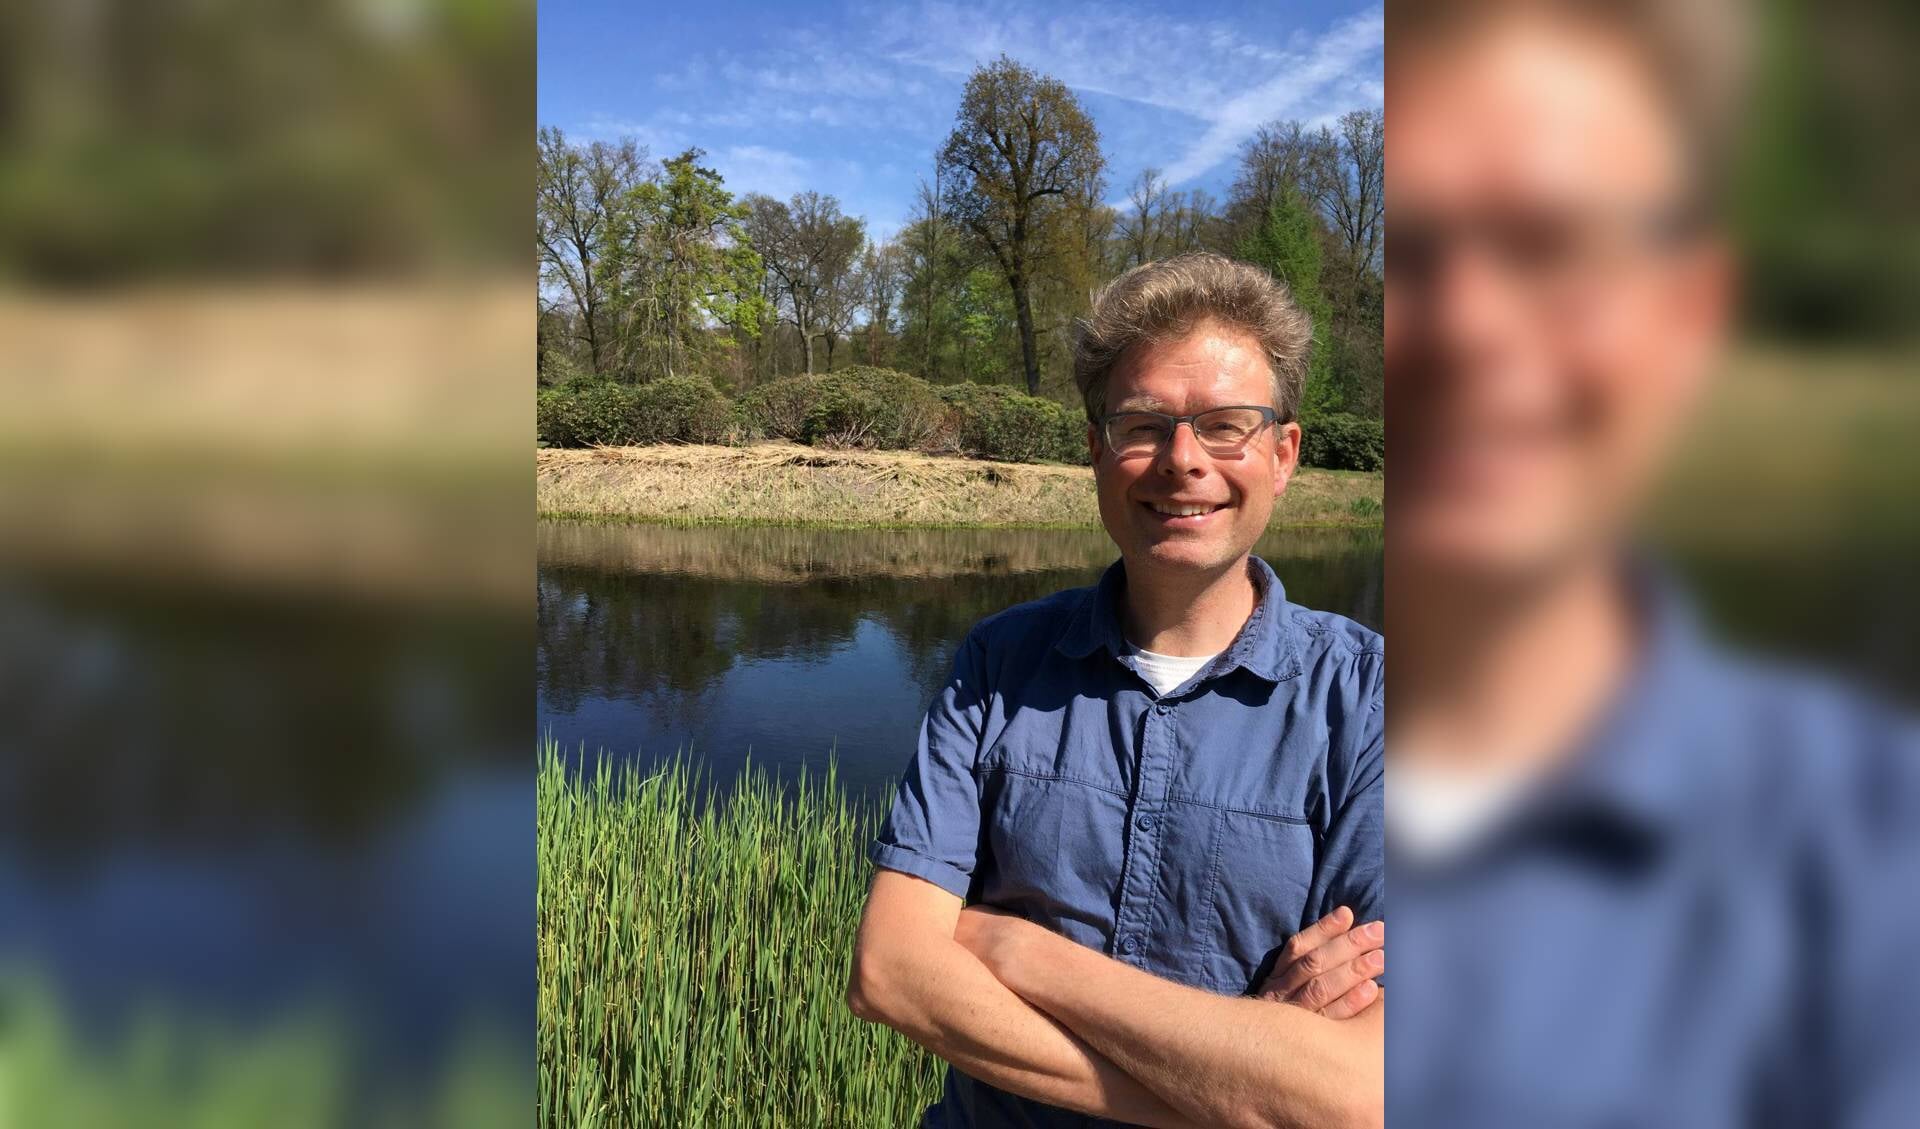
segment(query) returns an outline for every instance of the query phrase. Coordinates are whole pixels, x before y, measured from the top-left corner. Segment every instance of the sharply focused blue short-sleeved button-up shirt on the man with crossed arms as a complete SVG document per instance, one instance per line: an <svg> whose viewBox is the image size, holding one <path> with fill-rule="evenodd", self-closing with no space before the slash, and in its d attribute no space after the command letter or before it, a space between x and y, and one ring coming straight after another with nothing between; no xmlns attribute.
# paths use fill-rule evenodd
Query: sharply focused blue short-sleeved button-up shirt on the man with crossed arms
<svg viewBox="0 0 1920 1129"><path fill-rule="evenodd" d="M1336 906L1382 916L1382 645L1260 601L1156 695L1121 636L1125 568L981 620L868 856L1206 991L1258 987ZM1085 1125L958 1069L927 1125Z"/></svg>

